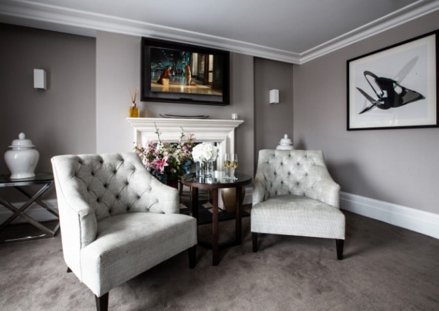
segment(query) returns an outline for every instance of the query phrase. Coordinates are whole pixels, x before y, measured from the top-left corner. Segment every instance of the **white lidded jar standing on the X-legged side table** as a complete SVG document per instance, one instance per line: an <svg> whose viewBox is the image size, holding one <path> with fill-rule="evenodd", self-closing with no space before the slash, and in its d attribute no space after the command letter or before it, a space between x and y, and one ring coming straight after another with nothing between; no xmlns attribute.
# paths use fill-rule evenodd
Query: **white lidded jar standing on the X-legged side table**
<svg viewBox="0 0 439 311"><path fill-rule="evenodd" d="M32 140L26 139L24 133L19 133L18 140L12 140L11 150L5 153L5 162L10 170L10 179L22 179L35 176L35 167L39 153L33 149Z"/></svg>

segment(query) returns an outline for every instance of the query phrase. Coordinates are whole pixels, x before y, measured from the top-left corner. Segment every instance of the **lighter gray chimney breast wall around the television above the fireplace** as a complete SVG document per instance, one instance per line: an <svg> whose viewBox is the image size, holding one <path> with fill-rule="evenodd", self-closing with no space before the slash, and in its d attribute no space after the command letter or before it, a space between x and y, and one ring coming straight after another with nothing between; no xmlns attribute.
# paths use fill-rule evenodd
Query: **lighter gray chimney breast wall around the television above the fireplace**
<svg viewBox="0 0 439 311"><path fill-rule="evenodd" d="M131 103L128 89L140 87L140 41L141 37L97 33L97 153L133 149L133 130L125 118ZM230 59L230 106L138 102L140 116L201 114L230 119L232 113L238 113L244 123L236 129L235 147L241 158L248 159L238 170L253 175L253 57L231 53Z"/></svg>

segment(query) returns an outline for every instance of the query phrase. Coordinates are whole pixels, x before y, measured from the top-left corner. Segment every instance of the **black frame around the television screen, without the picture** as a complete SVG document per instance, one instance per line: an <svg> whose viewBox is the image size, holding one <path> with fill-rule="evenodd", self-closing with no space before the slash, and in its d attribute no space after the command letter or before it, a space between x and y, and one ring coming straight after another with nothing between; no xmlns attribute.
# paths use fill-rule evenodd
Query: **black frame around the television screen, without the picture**
<svg viewBox="0 0 439 311"><path fill-rule="evenodd" d="M222 88L222 95L205 95L203 93L183 93L172 91L154 91L151 89L151 82L157 77L151 77L151 57L158 50L176 50L179 52L198 53L198 55L214 55L218 56L218 64L216 67L219 71L212 73L214 81ZM193 57L193 56L192 56ZM174 102L183 104L205 104L215 106L227 106L230 104L230 52L207 48L203 46L194 46L189 44L181 44L171 41L163 41L159 39L142 38L141 48L141 92L140 100L142 102ZM175 70L175 68L174 68ZM216 78L215 77L219 77ZM183 84L182 84L183 86ZM205 86L203 84L203 86ZM196 91L196 88L192 88ZM201 91L200 91L201 92Z"/></svg>

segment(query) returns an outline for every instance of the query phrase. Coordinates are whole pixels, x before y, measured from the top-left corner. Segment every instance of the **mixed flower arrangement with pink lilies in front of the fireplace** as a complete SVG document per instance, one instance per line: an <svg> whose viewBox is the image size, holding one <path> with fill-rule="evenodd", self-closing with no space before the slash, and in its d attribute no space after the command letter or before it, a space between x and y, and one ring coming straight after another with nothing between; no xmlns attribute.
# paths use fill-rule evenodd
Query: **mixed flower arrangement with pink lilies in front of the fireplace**
<svg viewBox="0 0 439 311"><path fill-rule="evenodd" d="M144 166L160 182L167 183L178 180L180 176L190 171L192 165L192 149L195 144L194 134L190 134L186 141L185 133L180 135L177 142L162 142L160 130L156 126L158 141L147 142L145 147L136 145L134 150L140 156Z"/></svg>

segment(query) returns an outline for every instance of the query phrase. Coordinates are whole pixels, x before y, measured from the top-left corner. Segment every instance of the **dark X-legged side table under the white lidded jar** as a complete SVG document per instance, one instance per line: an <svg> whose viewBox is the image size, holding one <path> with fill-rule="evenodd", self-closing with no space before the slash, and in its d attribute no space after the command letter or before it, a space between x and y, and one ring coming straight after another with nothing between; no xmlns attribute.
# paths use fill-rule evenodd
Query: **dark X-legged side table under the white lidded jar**
<svg viewBox="0 0 439 311"><path fill-rule="evenodd" d="M53 180L53 173L36 173L35 177L31 178L23 178L23 179L10 179L10 176L8 175L0 175L0 187L11 187L17 189L21 194L24 194L28 200L24 202L21 207L15 207L12 205L12 203L8 202L5 198L0 198L0 206L6 207L10 211L12 211L12 215L6 219L1 225L0 225L0 232L3 231L10 223L12 223L13 220L15 220L17 217L24 218L28 223L33 225L34 227L37 227L39 231L41 231L43 234L39 234L38 236L27 236L26 240L32 240L36 238L49 238L54 237L58 230L59 230L59 215L57 211L50 208L45 202L40 200L41 196L50 189L50 187L53 186L54 180ZM28 186L39 186L38 191L35 193L33 191L30 191ZM55 216L58 220L57 225L55 225L54 229L50 229L46 225L44 225L42 222L35 220L34 218L30 217L28 214L26 214L26 209L30 207L33 203L43 207L48 211L50 214ZM24 239L22 239L24 240ZM17 241L17 240L15 240Z"/></svg>

